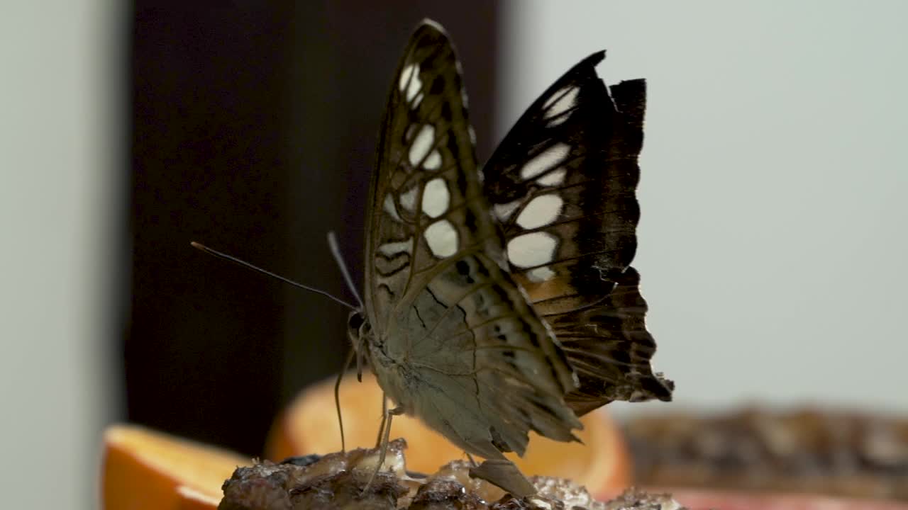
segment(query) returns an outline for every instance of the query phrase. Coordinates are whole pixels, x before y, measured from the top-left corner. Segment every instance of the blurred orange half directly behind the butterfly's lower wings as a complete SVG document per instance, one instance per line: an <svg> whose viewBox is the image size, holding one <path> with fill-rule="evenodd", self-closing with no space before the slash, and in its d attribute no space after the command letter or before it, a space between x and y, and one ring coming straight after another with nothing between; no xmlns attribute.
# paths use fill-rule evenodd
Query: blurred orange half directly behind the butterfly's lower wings
<svg viewBox="0 0 908 510"><path fill-rule="evenodd" d="M381 389L371 375L341 384L341 412L347 447L375 446L381 422ZM560 476L586 485L593 495L614 494L630 485L632 466L624 438L602 412L581 418L577 433L583 444L560 443L531 436L523 458L511 456L526 475ZM407 467L434 473L450 460L464 458L457 446L413 417L394 417L391 437L407 440ZM271 428L265 455L274 461L288 456L327 454L341 449L334 407L334 381L301 392Z"/></svg>

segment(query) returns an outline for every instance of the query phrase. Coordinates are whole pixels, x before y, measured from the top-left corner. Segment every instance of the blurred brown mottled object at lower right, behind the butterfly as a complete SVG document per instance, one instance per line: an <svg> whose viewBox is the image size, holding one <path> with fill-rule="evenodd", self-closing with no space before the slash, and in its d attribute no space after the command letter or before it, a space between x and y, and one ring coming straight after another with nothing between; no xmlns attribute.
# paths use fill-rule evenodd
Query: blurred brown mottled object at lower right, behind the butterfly
<svg viewBox="0 0 908 510"><path fill-rule="evenodd" d="M908 500L908 419L804 408L625 424L640 485Z"/></svg>

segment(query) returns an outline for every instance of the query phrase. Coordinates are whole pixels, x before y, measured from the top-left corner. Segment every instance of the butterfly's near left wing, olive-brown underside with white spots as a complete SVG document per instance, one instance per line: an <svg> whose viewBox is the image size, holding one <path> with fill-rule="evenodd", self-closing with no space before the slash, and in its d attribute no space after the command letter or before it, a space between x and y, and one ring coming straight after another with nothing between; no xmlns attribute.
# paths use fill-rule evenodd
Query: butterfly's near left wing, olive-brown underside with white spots
<svg viewBox="0 0 908 510"><path fill-rule="evenodd" d="M386 394L479 456L580 427L577 381L510 278L482 194L454 49L431 22L393 82L370 193L370 365Z"/></svg>

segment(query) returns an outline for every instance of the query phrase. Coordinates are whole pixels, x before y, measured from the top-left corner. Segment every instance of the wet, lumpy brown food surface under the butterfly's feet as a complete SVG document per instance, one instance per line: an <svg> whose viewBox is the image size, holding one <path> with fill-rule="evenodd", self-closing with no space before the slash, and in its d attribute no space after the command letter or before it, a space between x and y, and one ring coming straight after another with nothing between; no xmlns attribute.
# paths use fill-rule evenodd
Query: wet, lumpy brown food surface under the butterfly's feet
<svg viewBox="0 0 908 510"><path fill-rule="evenodd" d="M293 457L281 464L268 461L239 467L223 485L220 510L291 509L457 509L639 510L680 509L670 496L628 491L617 499L595 501L587 489L568 480L533 476L538 495L519 499L482 480L469 477L469 463L454 461L431 476L408 473L406 443L389 444L384 469L363 491L378 463L376 450L357 449L327 456Z"/></svg>

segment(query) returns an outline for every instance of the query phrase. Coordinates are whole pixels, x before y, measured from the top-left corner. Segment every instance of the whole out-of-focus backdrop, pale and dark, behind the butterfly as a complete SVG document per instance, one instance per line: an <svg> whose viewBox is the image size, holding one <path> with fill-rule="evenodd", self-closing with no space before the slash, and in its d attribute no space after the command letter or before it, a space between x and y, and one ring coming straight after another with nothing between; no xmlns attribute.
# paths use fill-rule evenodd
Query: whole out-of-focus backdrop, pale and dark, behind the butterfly
<svg viewBox="0 0 908 510"><path fill-rule="evenodd" d="M361 281L377 126L426 16L458 44L480 160L587 54L607 48L607 83L648 80L635 265L671 407L908 413L906 15L895 0L5 5L7 503L94 507L114 421L258 455L281 407L341 367L347 310L189 242L349 296L325 234Z"/></svg>

